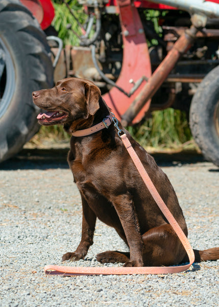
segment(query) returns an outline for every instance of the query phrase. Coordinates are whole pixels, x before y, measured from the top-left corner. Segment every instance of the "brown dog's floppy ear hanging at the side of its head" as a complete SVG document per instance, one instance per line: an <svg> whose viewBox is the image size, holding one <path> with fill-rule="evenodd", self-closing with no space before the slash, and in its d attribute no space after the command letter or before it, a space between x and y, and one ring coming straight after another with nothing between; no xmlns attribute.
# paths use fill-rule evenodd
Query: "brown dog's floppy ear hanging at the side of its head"
<svg viewBox="0 0 219 307"><path fill-rule="evenodd" d="M101 91L98 86L85 84L85 98L87 100L87 111L90 115L94 115L100 108L99 99Z"/></svg>

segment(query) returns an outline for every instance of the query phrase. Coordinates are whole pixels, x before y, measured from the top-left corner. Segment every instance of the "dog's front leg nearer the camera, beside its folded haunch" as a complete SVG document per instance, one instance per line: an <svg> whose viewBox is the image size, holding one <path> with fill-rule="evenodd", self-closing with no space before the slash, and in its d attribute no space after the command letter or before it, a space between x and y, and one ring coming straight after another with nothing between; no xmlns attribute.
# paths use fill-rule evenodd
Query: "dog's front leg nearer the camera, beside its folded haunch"
<svg viewBox="0 0 219 307"><path fill-rule="evenodd" d="M130 248L130 260L124 267L142 267L143 242L134 202L129 193L112 197L112 203L123 226Z"/></svg>

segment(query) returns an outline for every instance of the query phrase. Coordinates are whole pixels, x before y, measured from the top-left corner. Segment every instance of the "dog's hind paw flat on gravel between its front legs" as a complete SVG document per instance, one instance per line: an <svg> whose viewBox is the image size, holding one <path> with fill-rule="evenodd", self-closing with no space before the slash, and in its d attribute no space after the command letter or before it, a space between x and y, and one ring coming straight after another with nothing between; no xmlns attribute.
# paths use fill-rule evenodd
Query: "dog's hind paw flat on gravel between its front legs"
<svg viewBox="0 0 219 307"><path fill-rule="evenodd" d="M125 262L129 261L129 259L129 252L107 251L96 255L96 260L98 260L102 264L114 264L115 262L125 264Z"/></svg>

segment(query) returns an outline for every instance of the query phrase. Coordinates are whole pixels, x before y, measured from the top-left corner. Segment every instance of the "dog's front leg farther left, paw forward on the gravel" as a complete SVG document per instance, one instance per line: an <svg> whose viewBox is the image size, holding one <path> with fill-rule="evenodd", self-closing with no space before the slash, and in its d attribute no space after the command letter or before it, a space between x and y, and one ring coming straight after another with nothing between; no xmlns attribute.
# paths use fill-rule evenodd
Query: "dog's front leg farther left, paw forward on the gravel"
<svg viewBox="0 0 219 307"><path fill-rule="evenodd" d="M84 257L88 252L89 247L93 244L93 233L95 230L96 215L90 209L83 195L82 195L82 208L83 208L83 215L82 215L81 242L75 252L72 253L68 252L64 254L62 256L62 261L65 260L77 261L80 259L84 259Z"/></svg>

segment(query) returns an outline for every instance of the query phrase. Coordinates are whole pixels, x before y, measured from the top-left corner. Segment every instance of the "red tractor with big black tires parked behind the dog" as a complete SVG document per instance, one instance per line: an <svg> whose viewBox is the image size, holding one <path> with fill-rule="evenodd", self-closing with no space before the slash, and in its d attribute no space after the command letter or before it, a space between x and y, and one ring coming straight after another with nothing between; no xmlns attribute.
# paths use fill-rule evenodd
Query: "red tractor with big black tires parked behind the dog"
<svg viewBox="0 0 219 307"><path fill-rule="evenodd" d="M101 88L125 126L158 109L186 111L203 155L219 166L219 1L79 3L87 14L84 25L77 20L80 46L63 49L50 0L0 0L0 161L39 128L32 91L76 76Z"/></svg>

